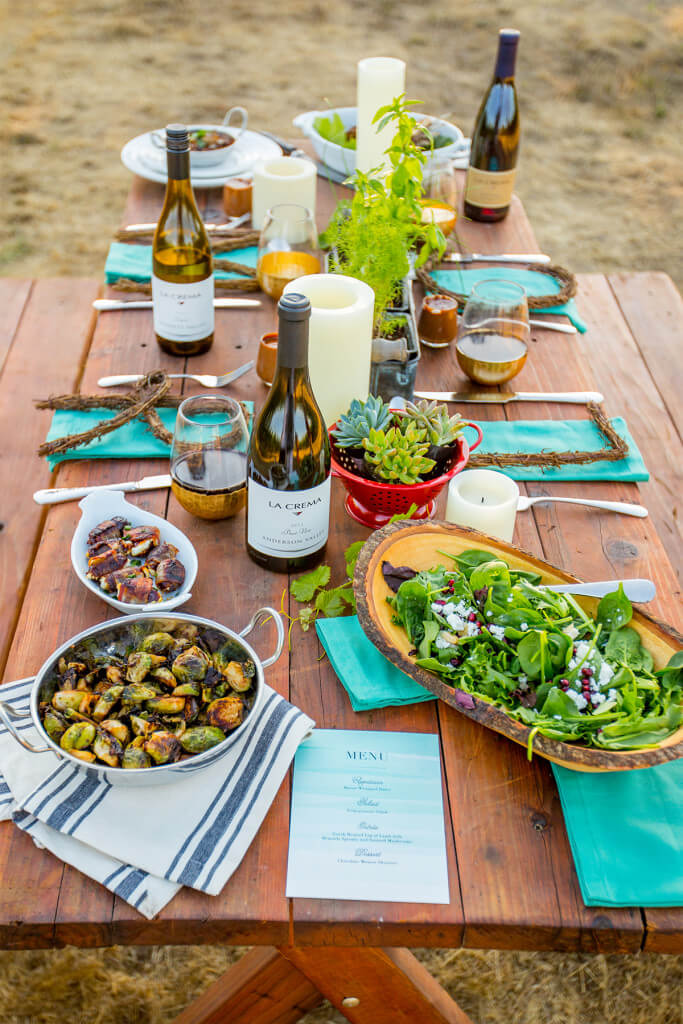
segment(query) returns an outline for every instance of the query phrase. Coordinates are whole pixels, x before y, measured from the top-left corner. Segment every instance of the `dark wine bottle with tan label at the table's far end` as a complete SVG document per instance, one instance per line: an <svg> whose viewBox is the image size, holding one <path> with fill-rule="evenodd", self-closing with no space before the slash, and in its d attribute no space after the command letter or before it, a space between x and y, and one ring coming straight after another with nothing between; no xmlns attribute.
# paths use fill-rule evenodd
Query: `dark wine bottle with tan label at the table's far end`
<svg viewBox="0 0 683 1024"><path fill-rule="evenodd" d="M519 146L518 42L515 29L501 30L494 79L474 123L465 182L465 216L472 220L503 220L510 209Z"/></svg>

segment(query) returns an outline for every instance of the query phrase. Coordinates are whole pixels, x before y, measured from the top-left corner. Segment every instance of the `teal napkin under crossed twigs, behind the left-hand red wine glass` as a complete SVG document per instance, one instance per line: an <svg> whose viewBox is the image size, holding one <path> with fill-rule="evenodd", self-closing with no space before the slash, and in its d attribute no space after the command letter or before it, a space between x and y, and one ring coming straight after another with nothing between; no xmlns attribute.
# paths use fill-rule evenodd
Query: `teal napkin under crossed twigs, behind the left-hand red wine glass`
<svg viewBox="0 0 683 1024"><path fill-rule="evenodd" d="M245 406L248 410L254 409L251 401L246 401ZM176 410L158 409L157 412L166 429L172 433L175 428ZM102 420L113 420L116 415L117 410L112 409L90 409L87 412L57 410L52 417L46 439L52 441L67 434L81 433ZM57 463L76 459L168 459L170 454L170 446L155 437L144 420L131 420L113 430L111 434L104 434L103 437L73 452L48 456L47 462L52 469Z"/></svg>

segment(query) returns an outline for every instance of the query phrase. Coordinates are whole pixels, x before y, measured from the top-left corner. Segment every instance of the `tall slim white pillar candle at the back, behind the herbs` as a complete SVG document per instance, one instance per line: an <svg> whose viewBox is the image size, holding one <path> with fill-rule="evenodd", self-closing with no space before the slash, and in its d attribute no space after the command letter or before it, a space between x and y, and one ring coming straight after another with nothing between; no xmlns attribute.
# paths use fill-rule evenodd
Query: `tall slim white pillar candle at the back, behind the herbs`
<svg viewBox="0 0 683 1024"><path fill-rule="evenodd" d="M388 173L384 151L391 143L395 126L390 122L381 132L373 118L380 106L386 106L405 92L405 61L394 57L367 57L358 60L357 110L355 138L356 170L368 173L382 167L380 176Z"/></svg>

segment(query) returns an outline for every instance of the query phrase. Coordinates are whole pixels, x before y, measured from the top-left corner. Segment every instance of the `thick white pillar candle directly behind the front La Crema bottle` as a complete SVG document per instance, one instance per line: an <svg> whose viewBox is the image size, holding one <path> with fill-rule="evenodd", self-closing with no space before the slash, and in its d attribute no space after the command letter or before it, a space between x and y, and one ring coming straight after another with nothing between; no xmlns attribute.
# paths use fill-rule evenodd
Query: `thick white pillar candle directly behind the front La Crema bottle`
<svg viewBox="0 0 683 1024"><path fill-rule="evenodd" d="M355 278L312 273L285 286L310 299L308 370L328 427L352 398L368 397L375 293Z"/></svg>

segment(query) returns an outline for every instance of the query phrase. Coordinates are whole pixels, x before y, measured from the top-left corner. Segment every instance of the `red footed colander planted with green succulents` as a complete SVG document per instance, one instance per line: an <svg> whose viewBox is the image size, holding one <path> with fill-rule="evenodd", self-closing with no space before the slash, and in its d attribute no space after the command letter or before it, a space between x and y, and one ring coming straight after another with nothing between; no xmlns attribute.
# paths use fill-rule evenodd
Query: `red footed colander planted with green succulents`
<svg viewBox="0 0 683 1024"><path fill-rule="evenodd" d="M431 518L434 499L467 464L466 425L436 402L392 410L374 395L355 398L330 429L332 472L347 490L346 511L373 529L413 505L412 518ZM475 429L473 449L481 439Z"/></svg>

